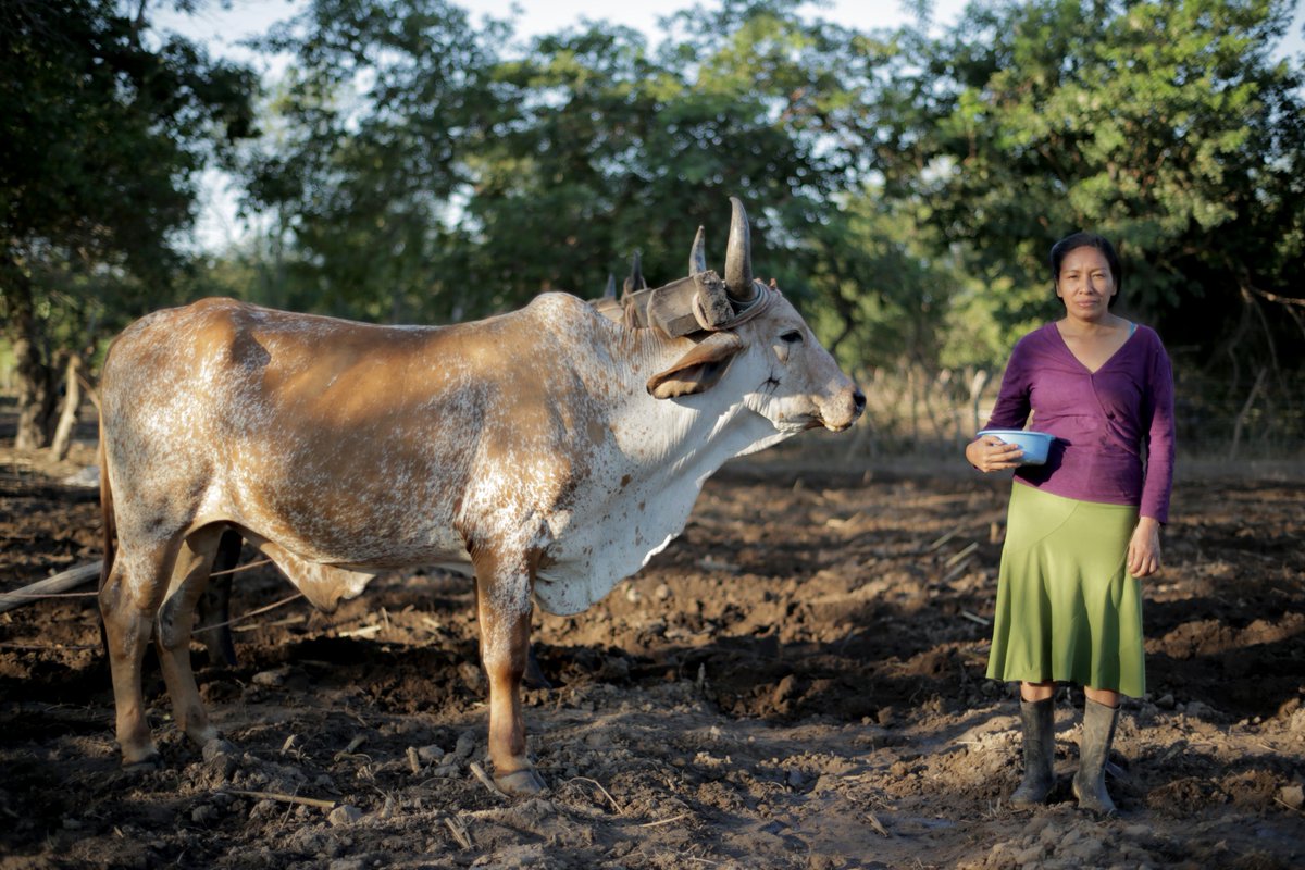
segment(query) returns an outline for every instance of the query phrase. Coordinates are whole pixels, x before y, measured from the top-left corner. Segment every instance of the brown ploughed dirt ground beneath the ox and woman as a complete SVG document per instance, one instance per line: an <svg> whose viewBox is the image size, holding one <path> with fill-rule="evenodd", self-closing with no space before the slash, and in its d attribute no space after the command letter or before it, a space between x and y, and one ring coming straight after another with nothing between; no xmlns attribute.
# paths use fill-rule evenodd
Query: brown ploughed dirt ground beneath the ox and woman
<svg viewBox="0 0 1305 870"><path fill-rule="evenodd" d="M984 665L1009 479L821 453L727 466L638 577L536 616L534 800L476 776L485 685L452 575L381 578L333 614L238 575L238 664L194 650L236 753L179 737L147 663L150 773L119 768L94 599L0 616L0 869L1305 863L1305 477L1181 471L1122 815L1098 820L1070 793L1067 690L1052 802L1005 803L1017 704ZM0 450L0 591L99 558L97 493L65 483L89 462Z"/></svg>

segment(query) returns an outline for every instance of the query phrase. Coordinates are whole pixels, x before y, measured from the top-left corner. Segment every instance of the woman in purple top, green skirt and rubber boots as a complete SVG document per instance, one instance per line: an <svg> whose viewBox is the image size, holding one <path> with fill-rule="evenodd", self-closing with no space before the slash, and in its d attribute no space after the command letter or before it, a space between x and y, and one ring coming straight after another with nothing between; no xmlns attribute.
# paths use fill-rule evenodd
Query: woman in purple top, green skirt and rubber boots
<svg viewBox="0 0 1305 870"><path fill-rule="evenodd" d="M966 446L980 471L1017 470L988 676L1019 681L1024 777L1011 802L1041 803L1054 784L1052 697L1069 682L1087 695L1074 794L1113 814L1104 767L1120 695L1146 691L1138 578L1160 570L1173 374L1160 338L1109 310L1121 284L1109 241L1077 232L1051 266L1065 316L1015 344L988 421L1056 436L1047 463L1021 466L996 436Z"/></svg>

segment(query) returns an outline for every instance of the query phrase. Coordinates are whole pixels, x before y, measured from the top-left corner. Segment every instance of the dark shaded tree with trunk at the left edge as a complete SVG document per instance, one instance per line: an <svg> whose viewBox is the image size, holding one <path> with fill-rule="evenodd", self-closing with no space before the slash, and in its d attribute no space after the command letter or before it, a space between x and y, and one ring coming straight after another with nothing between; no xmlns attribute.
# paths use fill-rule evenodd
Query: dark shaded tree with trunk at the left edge
<svg viewBox="0 0 1305 870"><path fill-rule="evenodd" d="M151 46L145 13L115 0L0 8L0 301L20 447L52 434L59 352L91 343L91 321L116 326L146 295L159 301L200 170L252 130L252 72L175 35Z"/></svg>

